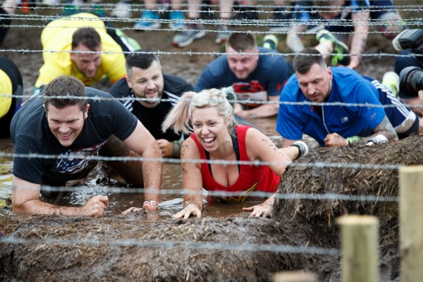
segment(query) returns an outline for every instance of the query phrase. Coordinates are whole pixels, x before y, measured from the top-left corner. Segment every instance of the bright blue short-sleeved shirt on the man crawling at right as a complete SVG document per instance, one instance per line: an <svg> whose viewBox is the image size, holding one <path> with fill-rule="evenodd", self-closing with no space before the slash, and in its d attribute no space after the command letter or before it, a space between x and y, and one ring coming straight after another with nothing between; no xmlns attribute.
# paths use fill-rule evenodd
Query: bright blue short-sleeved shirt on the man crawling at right
<svg viewBox="0 0 423 282"><path fill-rule="evenodd" d="M380 93L368 78L350 68L333 67L332 90L325 102L381 105ZM309 102L300 90L296 75L292 75L280 97L281 102ZM276 130L289 140L301 140L302 133L313 137L324 147L330 133L342 137L369 136L386 116L383 107L323 105L319 116L313 105L280 104Z"/></svg>

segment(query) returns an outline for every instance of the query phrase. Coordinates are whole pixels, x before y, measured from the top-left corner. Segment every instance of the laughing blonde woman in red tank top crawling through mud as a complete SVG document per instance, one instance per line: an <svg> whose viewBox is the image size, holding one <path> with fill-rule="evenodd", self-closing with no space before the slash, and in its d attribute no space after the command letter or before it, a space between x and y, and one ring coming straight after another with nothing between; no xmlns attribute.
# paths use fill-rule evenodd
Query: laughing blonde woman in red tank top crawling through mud
<svg viewBox="0 0 423 282"><path fill-rule="evenodd" d="M202 188L231 193L221 197L228 202L243 202L253 191L275 192L286 166L307 154L304 142L278 149L259 130L238 125L233 118L235 102L232 87L187 92L166 117L162 125L165 132L173 128L176 133L191 133L180 153L185 196L183 209L173 216L175 219L188 219L191 214L201 217ZM274 164L208 164L204 160ZM251 212L250 216L271 216L273 202L274 196L243 210Z"/></svg>

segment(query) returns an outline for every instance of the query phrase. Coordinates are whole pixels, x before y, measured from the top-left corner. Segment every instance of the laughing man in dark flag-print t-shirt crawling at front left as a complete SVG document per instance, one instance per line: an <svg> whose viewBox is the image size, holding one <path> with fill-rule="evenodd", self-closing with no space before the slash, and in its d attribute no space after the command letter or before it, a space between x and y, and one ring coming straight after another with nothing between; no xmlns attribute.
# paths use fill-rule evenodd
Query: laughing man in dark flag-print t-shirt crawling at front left
<svg viewBox="0 0 423 282"><path fill-rule="evenodd" d="M68 181L85 178L97 164L92 157L111 155L109 152L114 152L113 148L116 151L118 142L143 158L161 157L154 137L121 102L108 93L84 87L73 76L52 80L43 94L26 102L13 116L11 137L15 154L46 156L13 159L13 212L102 216L109 202L107 196L94 196L82 207L63 207L39 200L41 185L64 186ZM109 142L112 145L108 145ZM102 154L107 146L113 148ZM121 157L126 157L128 151L115 152L114 156L125 152ZM123 178L130 175L137 180L137 185L143 183L147 189L144 207L158 209L162 164L156 161L119 163L123 164L118 171ZM139 208L128 211L136 210Z"/></svg>

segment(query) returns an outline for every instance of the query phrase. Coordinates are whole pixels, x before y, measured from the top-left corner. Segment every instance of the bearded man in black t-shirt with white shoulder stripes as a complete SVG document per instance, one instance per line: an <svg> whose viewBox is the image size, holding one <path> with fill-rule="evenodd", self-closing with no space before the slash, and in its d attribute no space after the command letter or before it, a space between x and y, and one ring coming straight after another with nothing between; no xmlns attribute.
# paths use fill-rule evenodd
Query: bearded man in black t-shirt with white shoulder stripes
<svg viewBox="0 0 423 282"><path fill-rule="evenodd" d="M138 50L128 55L125 68L126 77L111 87L110 94L120 99L152 133L163 157L179 158L183 136L161 132L161 123L180 96L194 91L194 87L182 78L163 75L159 58L149 51Z"/></svg>

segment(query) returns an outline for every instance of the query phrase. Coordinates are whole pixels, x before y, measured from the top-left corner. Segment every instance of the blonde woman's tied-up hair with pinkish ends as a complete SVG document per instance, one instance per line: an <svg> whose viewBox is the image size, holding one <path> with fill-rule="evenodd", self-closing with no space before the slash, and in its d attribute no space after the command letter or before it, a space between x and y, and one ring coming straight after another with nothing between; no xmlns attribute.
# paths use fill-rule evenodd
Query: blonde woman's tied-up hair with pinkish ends
<svg viewBox="0 0 423 282"><path fill-rule="evenodd" d="M231 116L231 122L228 129L231 135L235 132L235 126L238 123L233 117L233 108L236 103L235 92L232 87L224 87L221 89L212 88L210 90L202 90L202 92L185 92L180 97L178 103L167 114L166 119L161 125L161 130L166 132L169 128L173 128L176 134L193 132L191 118L194 109L202 109L208 107L216 107L219 115L223 118Z"/></svg>

